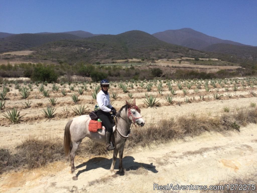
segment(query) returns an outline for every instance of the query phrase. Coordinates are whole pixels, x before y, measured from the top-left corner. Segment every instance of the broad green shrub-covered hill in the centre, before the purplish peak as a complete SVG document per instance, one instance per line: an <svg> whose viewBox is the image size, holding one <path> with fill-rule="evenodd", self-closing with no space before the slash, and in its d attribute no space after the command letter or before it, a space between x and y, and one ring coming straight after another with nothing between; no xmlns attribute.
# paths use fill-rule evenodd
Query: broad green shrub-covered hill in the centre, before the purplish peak
<svg viewBox="0 0 257 193"><path fill-rule="evenodd" d="M126 58L206 57L204 52L172 45L143 31L101 35L76 40L48 42L37 47L30 58L75 63L111 62Z"/></svg>

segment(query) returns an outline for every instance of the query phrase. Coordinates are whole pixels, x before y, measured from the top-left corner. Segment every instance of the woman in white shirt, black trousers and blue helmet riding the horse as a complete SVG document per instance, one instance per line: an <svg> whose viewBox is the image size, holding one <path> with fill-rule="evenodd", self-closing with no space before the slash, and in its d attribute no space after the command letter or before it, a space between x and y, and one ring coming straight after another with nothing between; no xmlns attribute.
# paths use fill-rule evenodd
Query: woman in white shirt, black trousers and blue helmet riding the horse
<svg viewBox="0 0 257 193"><path fill-rule="evenodd" d="M113 114L116 113L116 109L110 104L110 95L108 93L109 89L109 81L107 79L103 79L100 81L101 90L98 92L96 96L96 101L98 104L97 116L101 119L103 126L106 128L105 134L105 142L106 142L106 150L114 150L114 147L111 146L111 136L113 131L112 126L112 116L110 112Z"/></svg>

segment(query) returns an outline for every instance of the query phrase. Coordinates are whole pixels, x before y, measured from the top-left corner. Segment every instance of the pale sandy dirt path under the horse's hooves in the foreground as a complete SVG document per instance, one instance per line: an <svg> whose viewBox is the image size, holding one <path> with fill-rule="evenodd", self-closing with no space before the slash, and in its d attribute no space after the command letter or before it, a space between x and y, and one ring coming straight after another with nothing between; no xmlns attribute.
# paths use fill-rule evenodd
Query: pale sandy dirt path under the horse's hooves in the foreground
<svg viewBox="0 0 257 193"><path fill-rule="evenodd" d="M154 183L215 185L220 180L254 172L257 167L256 133L257 125L250 124L241 128L240 133L204 133L158 146L125 150L123 164L127 171L124 176L109 171L111 154L107 157L77 156L77 181L72 180L68 162L56 162L45 168L4 174L0 179L0 191L158 192L153 190Z"/></svg>

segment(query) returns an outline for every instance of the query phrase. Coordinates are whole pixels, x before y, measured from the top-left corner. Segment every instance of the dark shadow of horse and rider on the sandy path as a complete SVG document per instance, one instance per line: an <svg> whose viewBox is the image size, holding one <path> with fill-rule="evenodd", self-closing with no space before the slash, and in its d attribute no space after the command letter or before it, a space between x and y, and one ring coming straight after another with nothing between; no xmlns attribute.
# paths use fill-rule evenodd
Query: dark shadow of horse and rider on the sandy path
<svg viewBox="0 0 257 193"><path fill-rule="evenodd" d="M153 173L158 172L155 169L156 166L154 166L153 163L146 164L146 163L135 162L134 160L135 159L132 156L125 156L122 160L123 166L125 166L124 170L130 171L130 170L137 170L139 168L144 168L144 169L146 169L148 171L151 171ZM94 157L94 158L88 160L87 162L84 162L84 163L76 166L77 169L86 166L85 169L78 171L78 173L76 174L76 177L78 177L83 172L93 170L93 169L97 169L97 168L104 168L106 170L109 170L111 168L111 164L112 164L112 158L107 159L105 157ZM118 166L119 166L119 159L117 158L114 169L118 169ZM120 171L117 171L116 174L118 174L120 176L124 175L124 173L122 173Z"/></svg>

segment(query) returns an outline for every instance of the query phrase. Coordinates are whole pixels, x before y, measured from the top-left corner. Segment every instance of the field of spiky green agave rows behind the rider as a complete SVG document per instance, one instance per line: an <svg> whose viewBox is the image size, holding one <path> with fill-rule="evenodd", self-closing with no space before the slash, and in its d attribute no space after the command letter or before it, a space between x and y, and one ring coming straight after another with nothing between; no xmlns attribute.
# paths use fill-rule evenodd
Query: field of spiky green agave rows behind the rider
<svg viewBox="0 0 257 193"><path fill-rule="evenodd" d="M50 84L4 81L0 87L1 126L87 114L94 109L99 90L98 83L88 82ZM146 112L147 108L169 107L172 111L174 106L190 103L204 101L208 106L208 102L215 100L254 98L256 90L256 78L131 80L112 82L109 94L113 106L117 109L123 106L125 100L136 99L138 106Z"/></svg>

